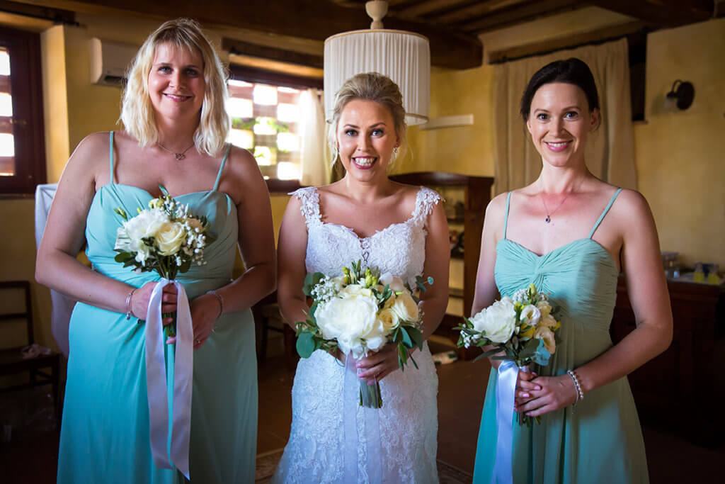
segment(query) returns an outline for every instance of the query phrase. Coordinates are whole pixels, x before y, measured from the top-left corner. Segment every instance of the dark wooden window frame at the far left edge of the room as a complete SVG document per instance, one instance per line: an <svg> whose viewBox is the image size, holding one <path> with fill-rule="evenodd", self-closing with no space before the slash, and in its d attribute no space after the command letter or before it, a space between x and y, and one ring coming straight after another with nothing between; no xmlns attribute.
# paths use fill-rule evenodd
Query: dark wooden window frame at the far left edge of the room
<svg viewBox="0 0 725 484"><path fill-rule="evenodd" d="M15 144L15 173L0 176L0 195L33 194L46 183L40 34L0 26L0 46L10 56Z"/></svg>

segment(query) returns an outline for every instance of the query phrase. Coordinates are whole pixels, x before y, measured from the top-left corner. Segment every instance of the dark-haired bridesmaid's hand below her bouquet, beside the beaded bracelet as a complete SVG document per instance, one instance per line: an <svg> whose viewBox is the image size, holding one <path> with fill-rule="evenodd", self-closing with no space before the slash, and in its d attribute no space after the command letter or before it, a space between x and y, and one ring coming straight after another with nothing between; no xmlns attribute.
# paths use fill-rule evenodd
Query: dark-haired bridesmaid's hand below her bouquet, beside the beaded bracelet
<svg viewBox="0 0 725 484"><path fill-rule="evenodd" d="M519 377L521 373L519 372ZM536 377L529 381L519 380L518 388L520 390L516 391L514 411L529 417L539 417L576 402L576 387L568 374Z"/></svg>

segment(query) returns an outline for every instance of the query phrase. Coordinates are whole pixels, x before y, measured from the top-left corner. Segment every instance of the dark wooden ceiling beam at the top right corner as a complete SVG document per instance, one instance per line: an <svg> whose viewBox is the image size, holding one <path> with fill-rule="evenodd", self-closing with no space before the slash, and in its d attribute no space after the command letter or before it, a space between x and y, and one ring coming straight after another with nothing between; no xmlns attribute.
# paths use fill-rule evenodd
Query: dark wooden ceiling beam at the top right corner
<svg viewBox="0 0 725 484"><path fill-rule="evenodd" d="M589 0L589 3L660 27L708 20L715 9L713 0Z"/></svg>

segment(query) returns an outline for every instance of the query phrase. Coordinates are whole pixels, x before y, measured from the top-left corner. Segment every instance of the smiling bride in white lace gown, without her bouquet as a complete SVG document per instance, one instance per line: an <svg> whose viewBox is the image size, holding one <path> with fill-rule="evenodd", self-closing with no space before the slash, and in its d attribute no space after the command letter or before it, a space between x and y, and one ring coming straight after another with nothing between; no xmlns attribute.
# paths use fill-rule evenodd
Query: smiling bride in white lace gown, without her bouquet
<svg viewBox="0 0 725 484"><path fill-rule="evenodd" d="M328 186L294 192L279 237L278 300L294 327L306 311L307 272L341 274L352 261L400 276L434 278L421 294L423 337L439 325L448 299L448 226L431 189L387 176L405 146L405 110L398 86L378 73L349 78L338 91L328 139L346 170ZM297 365L289 441L274 483L343 483L344 356L317 350ZM399 371L386 345L357 361L359 377L380 382L381 474L389 483L437 483L438 377L427 343L413 354L418 369ZM340 361L338 361L340 360ZM363 409L357 406L357 482L367 483ZM355 418L352 417L352 418Z"/></svg>

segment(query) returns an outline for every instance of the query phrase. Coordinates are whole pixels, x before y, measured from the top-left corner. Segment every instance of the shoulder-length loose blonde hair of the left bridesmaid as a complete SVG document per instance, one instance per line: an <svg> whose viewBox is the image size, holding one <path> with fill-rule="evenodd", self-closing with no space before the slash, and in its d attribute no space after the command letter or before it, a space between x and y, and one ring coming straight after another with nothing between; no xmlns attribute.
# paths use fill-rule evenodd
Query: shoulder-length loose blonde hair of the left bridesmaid
<svg viewBox="0 0 725 484"><path fill-rule="evenodd" d="M194 132L194 146L200 153L218 155L225 147L231 129L231 119L225 108L229 97L228 75L211 42L202 32L202 26L191 19L178 18L162 23L138 49L123 91L120 117L123 126L141 147L152 146L159 141L149 95L149 72L160 44L171 44L201 54L204 62L204 102L199 126Z"/></svg>

